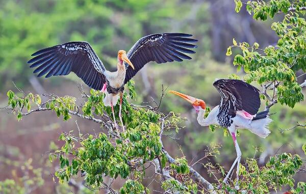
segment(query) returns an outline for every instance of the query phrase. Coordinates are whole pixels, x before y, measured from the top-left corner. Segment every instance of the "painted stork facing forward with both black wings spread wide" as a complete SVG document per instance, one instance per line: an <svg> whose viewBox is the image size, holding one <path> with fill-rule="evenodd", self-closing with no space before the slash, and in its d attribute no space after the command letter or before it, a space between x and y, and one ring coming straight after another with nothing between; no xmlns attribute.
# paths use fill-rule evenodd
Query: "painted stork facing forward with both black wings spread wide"
<svg viewBox="0 0 306 194"><path fill-rule="evenodd" d="M142 37L134 46L125 52L118 51L116 72L107 71L92 47L87 42L68 42L41 49L32 54L28 61L30 67L36 67L33 73L38 77L46 74L46 78L56 75L67 75L71 71L77 74L89 87L106 93L104 104L112 107L114 124L118 125L114 115L114 105L120 95L119 118L121 118L121 104L124 84L129 81L145 64L150 61L166 63L191 58L185 53L195 53L188 48L196 48L191 43L192 35L183 33L162 33Z"/></svg>

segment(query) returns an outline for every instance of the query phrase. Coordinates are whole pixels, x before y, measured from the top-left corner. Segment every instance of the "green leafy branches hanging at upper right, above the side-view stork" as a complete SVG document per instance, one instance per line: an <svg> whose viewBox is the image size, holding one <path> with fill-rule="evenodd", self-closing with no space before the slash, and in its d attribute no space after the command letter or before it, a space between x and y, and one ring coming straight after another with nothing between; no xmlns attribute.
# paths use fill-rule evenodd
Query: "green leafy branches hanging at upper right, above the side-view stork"
<svg viewBox="0 0 306 194"><path fill-rule="evenodd" d="M238 66L238 71L241 67L244 68L246 73L244 79L247 82L256 80L258 84L268 82L266 86L275 86L272 87L273 95L264 93L262 96L267 100L267 106L274 103L275 89L278 103L293 108L296 103L303 100L295 72L300 69L306 71L306 22L297 13L304 14L304 11L299 11L299 7L305 4L305 1L294 1L291 4L288 0L272 0L268 3L248 1L246 9L250 14L253 13L254 19L266 20L268 15L273 18L279 11L286 14L282 22L272 24L272 30L279 37L277 45L260 49L258 43L250 46L249 43L242 42L228 47L227 55L232 54L233 47L241 49L242 55L237 54L233 64ZM240 4L236 2L236 5ZM288 13L290 7L296 8L297 12Z"/></svg>

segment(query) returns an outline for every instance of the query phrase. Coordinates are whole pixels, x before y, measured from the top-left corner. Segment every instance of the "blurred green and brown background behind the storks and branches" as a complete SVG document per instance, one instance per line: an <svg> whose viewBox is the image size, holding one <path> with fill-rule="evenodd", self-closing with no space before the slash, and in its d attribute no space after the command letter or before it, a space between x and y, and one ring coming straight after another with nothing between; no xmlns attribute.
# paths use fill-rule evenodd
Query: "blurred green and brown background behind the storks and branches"
<svg viewBox="0 0 306 194"><path fill-rule="evenodd" d="M279 15L275 21L282 18L283 15ZM129 50L139 38L163 32L193 34L199 40L196 54L183 63L145 66L134 77L138 96L133 103L147 102L151 97L158 99L163 84L169 90L190 94L215 106L220 100L212 86L215 78L227 78L231 73L243 77L244 74L232 65L233 57L225 56L226 48L232 45L234 37L251 45L258 42L261 47L275 45L277 36L271 30L272 22L255 21L245 10L237 14L233 0L0 0L0 107L7 104L7 90L16 92L13 82L26 93L46 92L81 99L78 84L83 81L74 74L48 79L35 77L27 61L38 49L69 41L87 41L106 68L115 70L119 49ZM238 53L234 50L234 54L235 51ZM301 76L298 81L304 79L306 77ZM84 84L83 88L89 91ZM266 139L241 131L238 142L242 161L246 157L260 157L258 162L263 165L268 156L282 152L300 154L305 159L301 149L304 130L296 128L281 133L281 129L290 128L296 122L305 122L305 105L303 102L293 109L274 105L271 108L271 113L275 113L271 116L274 122ZM173 157L184 153L189 162L194 162L205 154L211 143L221 143L220 155L210 162L219 162L225 170L230 168L236 152L232 138L224 137L222 129L212 132L199 126L192 106L174 95L163 99L161 110L182 113L187 118L182 123L186 127L179 133L169 131L176 140L163 139ZM50 163L45 154L62 146L58 137L63 130L77 130L76 120L84 134L100 129L99 125L80 118L72 117L63 122L52 113L31 114L17 122L14 115L0 110L0 181L15 181L20 193L90 193L85 188L81 191L77 186L79 182L74 186L54 182L50 173L55 172L57 164ZM263 150L256 151L256 147ZM200 164L194 168L214 182ZM297 175L295 179L305 181L306 178ZM13 185L11 180L5 184ZM120 181L117 184L117 188L122 185ZM153 188L154 184L150 190Z"/></svg>

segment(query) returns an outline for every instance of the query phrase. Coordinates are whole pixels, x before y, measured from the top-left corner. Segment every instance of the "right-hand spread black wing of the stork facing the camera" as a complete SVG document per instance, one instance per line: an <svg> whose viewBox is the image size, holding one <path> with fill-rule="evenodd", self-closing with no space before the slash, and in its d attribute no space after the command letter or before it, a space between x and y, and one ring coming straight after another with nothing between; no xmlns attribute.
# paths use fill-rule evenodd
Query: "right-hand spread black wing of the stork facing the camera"
<svg viewBox="0 0 306 194"><path fill-rule="evenodd" d="M197 40L191 39L190 34L183 33L163 33L142 37L127 52L127 57L135 67L135 70L125 63L126 74L124 84L148 62L166 63L173 61L183 61L191 59L185 53L195 53L188 48L196 48L196 45L190 44Z"/></svg>

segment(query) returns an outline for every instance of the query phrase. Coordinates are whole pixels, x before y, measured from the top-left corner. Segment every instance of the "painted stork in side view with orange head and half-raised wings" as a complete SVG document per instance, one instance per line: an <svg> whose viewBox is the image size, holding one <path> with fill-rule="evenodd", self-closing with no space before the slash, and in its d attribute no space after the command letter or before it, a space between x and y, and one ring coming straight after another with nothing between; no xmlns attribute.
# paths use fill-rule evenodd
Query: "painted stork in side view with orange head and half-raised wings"
<svg viewBox="0 0 306 194"><path fill-rule="evenodd" d="M213 85L221 95L221 102L211 110L207 118L204 118L206 103L203 100L176 91L169 92L184 98L193 105L198 114L197 121L201 126L216 124L226 127L230 131L237 158L223 182L227 182L236 163L238 180L241 151L236 139L237 129L248 129L252 133L265 138L270 133L267 126L272 120L269 118L267 110L257 113L260 107L259 90L257 88L236 79L218 79Z"/></svg>

